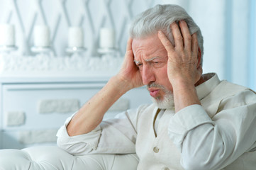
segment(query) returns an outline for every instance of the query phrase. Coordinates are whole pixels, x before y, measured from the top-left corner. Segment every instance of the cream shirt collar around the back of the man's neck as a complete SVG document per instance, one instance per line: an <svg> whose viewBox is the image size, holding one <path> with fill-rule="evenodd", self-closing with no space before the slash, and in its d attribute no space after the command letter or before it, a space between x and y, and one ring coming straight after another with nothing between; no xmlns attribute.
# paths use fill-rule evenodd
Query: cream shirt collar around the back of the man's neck
<svg viewBox="0 0 256 170"><path fill-rule="evenodd" d="M203 74L202 77L206 81L199 84L199 86L196 86L196 93L200 101L210 94L210 92L221 82L216 73Z"/></svg>

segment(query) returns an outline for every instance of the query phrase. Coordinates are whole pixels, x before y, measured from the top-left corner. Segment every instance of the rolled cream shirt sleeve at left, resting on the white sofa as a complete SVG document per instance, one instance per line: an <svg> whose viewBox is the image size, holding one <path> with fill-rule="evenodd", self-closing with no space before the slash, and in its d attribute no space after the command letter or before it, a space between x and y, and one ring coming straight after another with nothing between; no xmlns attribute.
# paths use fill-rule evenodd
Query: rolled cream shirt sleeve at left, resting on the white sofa
<svg viewBox="0 0 256 170"><path fill-rule="evenodd" d="M128 110L113 119L104 120L87 134L69 137L67 125L72 119L67 118L57 132L57 145L70 154L128 154L135 153L137 137L136 123L141 108Z"/></svg>

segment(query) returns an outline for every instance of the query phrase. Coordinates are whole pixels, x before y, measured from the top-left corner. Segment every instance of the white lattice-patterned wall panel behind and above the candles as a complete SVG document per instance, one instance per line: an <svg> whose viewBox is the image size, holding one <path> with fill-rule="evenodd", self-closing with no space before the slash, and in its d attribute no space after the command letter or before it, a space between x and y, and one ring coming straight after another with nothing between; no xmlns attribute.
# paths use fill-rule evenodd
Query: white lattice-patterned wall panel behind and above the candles
<svg viewBox="0 0 256 170"><path fill-rule="evenodd" d="M15 26L18 53L32 55L35 26L50 28L50 42L55 55L67 55L67 32L72 26L84 30L87 55L99 55L99 30L113 28L116 48L125 53L128 24L140 11L152 6L148 0L0 0L0 23Z"/></svg>

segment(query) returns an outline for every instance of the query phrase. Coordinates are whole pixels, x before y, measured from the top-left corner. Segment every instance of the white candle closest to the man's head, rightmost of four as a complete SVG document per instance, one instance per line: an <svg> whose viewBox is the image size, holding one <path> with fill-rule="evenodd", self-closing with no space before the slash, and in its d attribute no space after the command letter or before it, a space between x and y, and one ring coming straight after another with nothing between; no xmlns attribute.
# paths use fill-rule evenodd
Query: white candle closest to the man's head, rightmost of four
<svg viewBox="0 0 256 170"><path fill-rule="evenodd" d="M99 47L113 48L115 47L115 31L111 28L101 28Z"/></svg>

